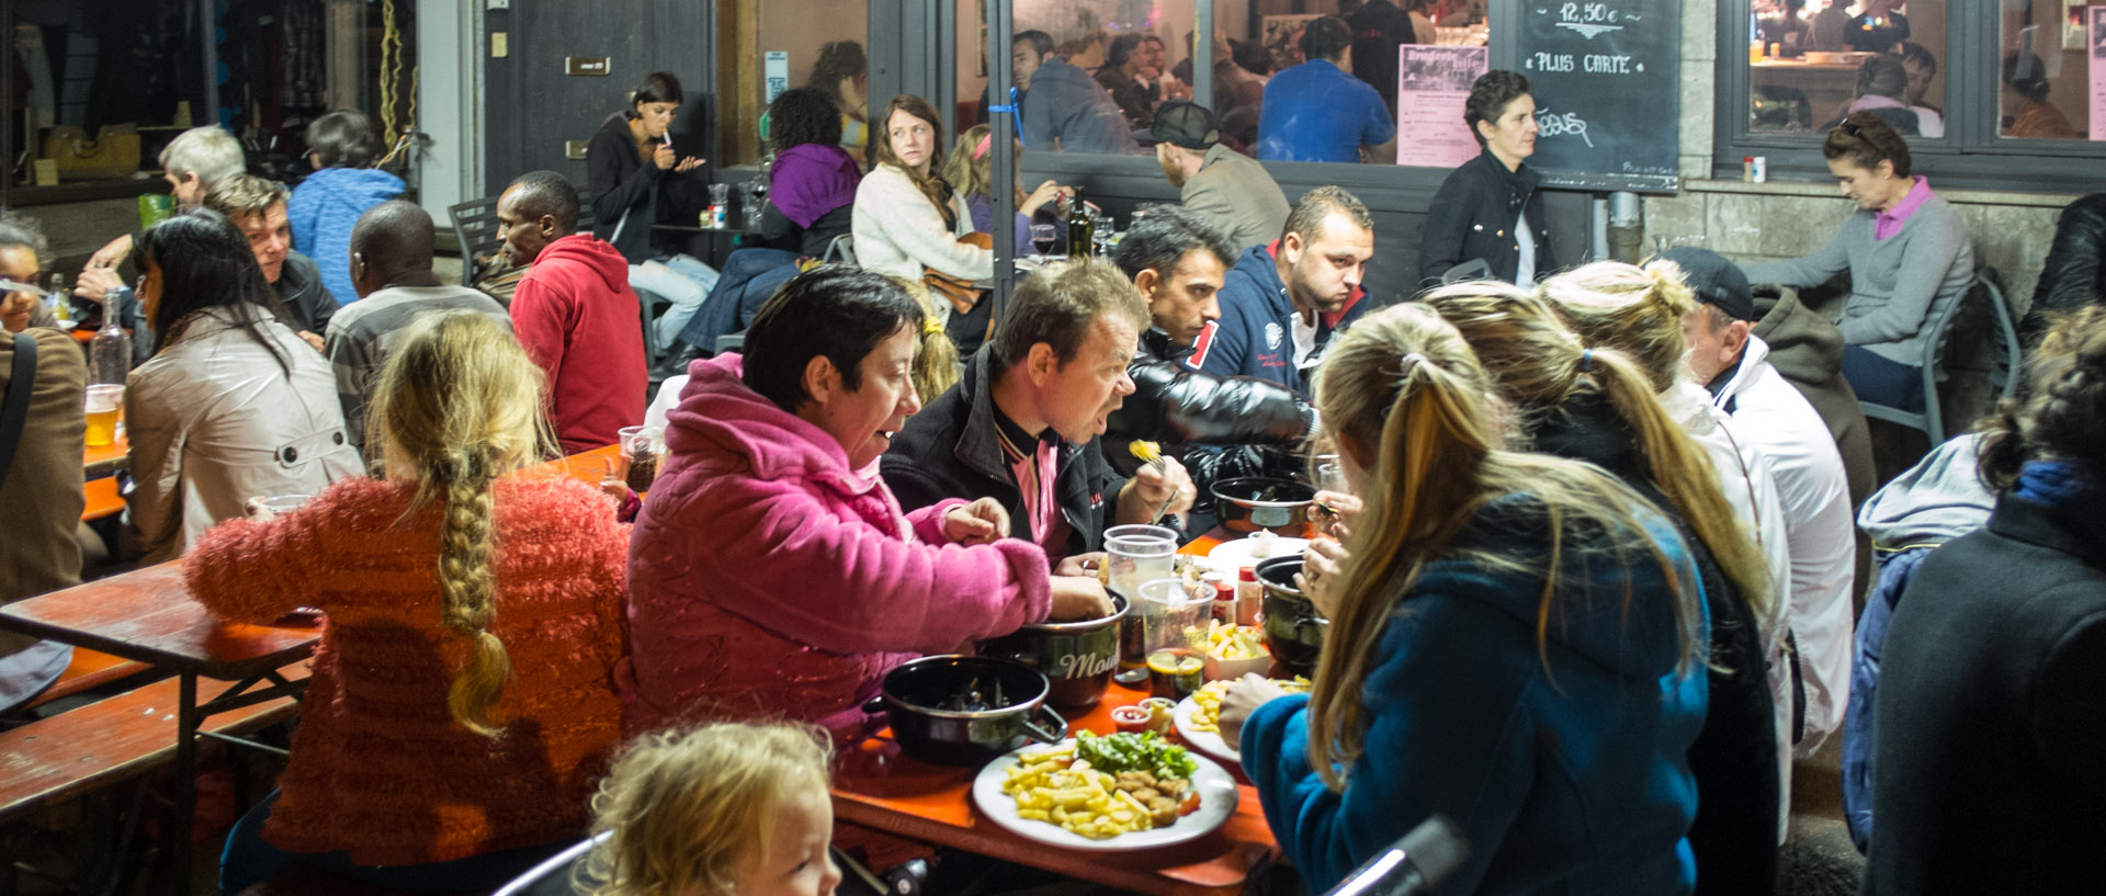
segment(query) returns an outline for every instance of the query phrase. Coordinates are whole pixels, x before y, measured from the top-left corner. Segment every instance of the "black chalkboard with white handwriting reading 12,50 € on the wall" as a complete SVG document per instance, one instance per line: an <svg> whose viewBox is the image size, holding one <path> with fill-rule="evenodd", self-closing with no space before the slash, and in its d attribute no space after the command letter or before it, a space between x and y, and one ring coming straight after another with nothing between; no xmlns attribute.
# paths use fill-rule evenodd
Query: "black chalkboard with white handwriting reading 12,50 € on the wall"
<svg viewBox="0 0 2106 896"><path fill-rule="evenodd" d="M1674 191L1681 0L1521 0L1514 63L1535 86L1546 185Z"/></svg>

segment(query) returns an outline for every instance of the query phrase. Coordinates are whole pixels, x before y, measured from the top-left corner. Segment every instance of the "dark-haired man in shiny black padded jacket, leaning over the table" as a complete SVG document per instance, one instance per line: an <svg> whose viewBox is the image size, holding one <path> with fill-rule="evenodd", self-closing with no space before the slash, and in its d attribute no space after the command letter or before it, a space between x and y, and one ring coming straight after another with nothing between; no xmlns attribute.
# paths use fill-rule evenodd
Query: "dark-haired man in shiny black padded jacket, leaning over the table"
<svg viewBox="0 0 2106 896"><path fill-rule="evenodd" d="M1133 442L1163 444L1192 473L1200 505L1209 505L1207 486L1217 477L1255 475L1268 459L1293 465L1293 452L1316 425L1316 410L1293 389L1255 376L1215 376L1186 362L1200 330L1221 318L1215 292L1234 259L1228 238L1181 208L1150 210L1114 257L1148 299L1152 326L1127 366L1133 395L1097 442L1122 473L1141 463Z"/></svg>

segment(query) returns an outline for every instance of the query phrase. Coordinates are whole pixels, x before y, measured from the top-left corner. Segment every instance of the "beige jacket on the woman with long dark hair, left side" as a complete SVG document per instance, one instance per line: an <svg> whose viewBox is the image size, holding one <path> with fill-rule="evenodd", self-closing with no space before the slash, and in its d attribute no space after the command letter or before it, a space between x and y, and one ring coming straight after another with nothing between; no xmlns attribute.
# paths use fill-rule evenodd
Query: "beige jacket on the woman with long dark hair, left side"
<svg viewBox="0 0 2106 896"><path fill-rule="evenodd" d="M126 379L131 433L131 522L145 562L175 559L246 501L320 494L364 463L343 431L337 374L293 330L261 320L257 330L291 368L215 307L179 322L154 360Z"/></svg>

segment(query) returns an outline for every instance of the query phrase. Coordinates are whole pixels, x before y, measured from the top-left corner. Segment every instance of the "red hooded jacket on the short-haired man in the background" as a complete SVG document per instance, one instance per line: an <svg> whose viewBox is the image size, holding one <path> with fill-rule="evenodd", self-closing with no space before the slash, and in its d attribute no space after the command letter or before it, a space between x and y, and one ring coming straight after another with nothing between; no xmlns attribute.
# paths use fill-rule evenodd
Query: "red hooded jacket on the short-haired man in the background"
<svg viewBox="0 0 2106 896"><path fill-rule="evenodd" d="M564 454L611 446L644 421L642 307L615 246L573 233L541 248L512 292L512 330L548 372L548 419Z"/></svg>

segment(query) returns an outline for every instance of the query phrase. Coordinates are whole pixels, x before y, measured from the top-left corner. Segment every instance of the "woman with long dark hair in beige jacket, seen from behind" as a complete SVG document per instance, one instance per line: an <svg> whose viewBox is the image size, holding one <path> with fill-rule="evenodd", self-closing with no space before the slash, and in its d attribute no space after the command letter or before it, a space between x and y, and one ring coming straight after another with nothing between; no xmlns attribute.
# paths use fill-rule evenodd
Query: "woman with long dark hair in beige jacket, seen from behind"
<svg viewBox="0 0 2106 896"><path fill-rule="evenodd" d="M343 431L337 374L272 313L249 238L198 210L133 248L160 349L126 379L133 526L145 562L190 551L255 496L316 494L364 465Z"/></svg>

